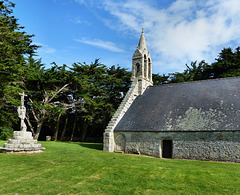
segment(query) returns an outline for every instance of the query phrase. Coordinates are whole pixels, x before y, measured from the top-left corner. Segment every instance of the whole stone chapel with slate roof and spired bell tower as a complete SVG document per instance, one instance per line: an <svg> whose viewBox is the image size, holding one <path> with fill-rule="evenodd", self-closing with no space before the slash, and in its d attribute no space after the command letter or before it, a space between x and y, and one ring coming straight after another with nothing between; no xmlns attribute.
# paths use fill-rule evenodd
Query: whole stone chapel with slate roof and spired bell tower
<svg viewBox="0 0 240 195"><path fill-rule="evenodd" d="M104 151L240 162L240 77L153 86L142 31L131 87L104 132Z"/></svg>

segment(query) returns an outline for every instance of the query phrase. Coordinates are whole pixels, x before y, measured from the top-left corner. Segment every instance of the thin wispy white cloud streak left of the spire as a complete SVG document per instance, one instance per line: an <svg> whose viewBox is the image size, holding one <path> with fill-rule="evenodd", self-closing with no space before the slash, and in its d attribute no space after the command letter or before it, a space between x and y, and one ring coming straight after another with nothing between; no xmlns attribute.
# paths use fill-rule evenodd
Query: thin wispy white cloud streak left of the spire
<svg viewBox="0 0 240 195"><path fill-rule="evenodd" d="M92 45L94 47L100 47L100 48L103 48L103 49L106 49L106 50L109 50L109 51L112 51L112 52L117 52L117 53L124 52L123 49L117 47L115 43L110 42L110 41L102 41L102 40L99 40L99 39L89 40L89 39L86 39L86 38L75 39L75 41L80 42L80 43L84 43L84 44L87 44L87 45Z"/></svg>

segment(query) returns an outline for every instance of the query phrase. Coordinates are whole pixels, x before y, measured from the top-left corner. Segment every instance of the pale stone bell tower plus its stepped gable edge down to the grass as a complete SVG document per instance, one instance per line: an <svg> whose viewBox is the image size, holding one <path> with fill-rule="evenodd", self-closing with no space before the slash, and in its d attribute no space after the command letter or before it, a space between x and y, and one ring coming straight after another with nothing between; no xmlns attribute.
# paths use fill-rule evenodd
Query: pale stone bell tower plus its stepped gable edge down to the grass
<svg viewBox="0 0 240 195"><path fill-rule="evenodd" d="M142 95L148 86L152 86L152 60L150 53L147 51L147 45L144 37L144 31L139 40L138 47L132 58L132 84L122 103L108 123L105 132L103 143L103 150L106 152L114 152L123 150L125 143L124 137L116 137L114 129L119 121L125 115L133 101L138 95Z"/></svg>

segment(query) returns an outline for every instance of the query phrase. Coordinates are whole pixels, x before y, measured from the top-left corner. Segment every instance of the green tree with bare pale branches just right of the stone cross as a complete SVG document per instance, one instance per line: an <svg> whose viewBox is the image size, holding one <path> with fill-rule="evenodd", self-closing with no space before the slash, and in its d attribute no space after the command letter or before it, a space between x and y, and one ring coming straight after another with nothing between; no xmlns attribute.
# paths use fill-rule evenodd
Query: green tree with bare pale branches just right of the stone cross
<svg viewBox="0 0 240 195"><path fill-rule="evenodd" d="M30 58L25 69L28 73L23 80L28 94L28 111L31 113L27 117L28 124L35 139L38 139L46 119L65 112L62 105L67 99L70 85L70 73L65 65L59 67L53 64L52 68L46 70L42 66L40 61Z"/></svg>

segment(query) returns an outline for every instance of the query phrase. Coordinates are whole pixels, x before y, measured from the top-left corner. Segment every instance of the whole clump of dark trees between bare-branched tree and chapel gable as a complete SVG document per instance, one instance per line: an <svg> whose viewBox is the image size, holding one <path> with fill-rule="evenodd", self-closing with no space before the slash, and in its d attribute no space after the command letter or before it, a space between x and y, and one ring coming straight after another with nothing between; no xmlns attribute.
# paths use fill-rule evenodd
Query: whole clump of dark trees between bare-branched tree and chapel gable
<svg viewBox="0 0 240 195"><path fill-rule="evenodd" d="M74 75L72 97L79 105L75 107L74 116L80 124L81 141L84 141L86 135L102 135L130 87L131 73L119 66L107 68L98 59L90 65L74 63L70 69Z"/></svg>

